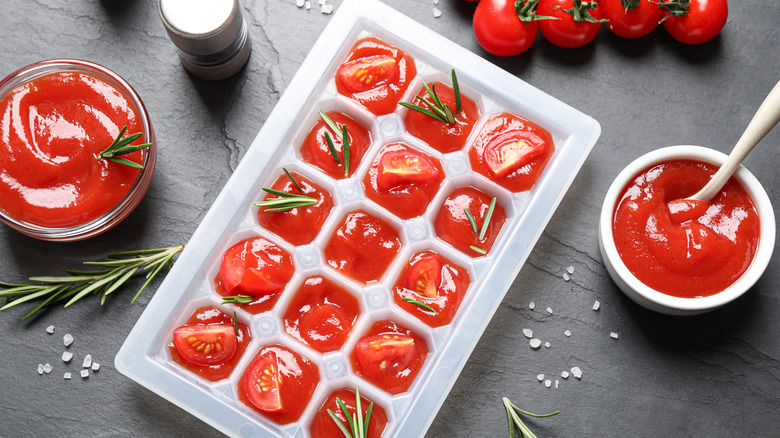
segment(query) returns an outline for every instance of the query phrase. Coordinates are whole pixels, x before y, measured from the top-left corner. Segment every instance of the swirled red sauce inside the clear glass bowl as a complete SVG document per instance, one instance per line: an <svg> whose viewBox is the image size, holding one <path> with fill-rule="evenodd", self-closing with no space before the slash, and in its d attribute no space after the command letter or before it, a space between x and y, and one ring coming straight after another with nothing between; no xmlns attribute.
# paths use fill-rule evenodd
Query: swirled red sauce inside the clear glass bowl
<svg viewBox="0 0 780 438"><path fill-rule="evenodd" d="M138 108L90 74L52 73L11 90L0 100L0 209L54 228L85 224L111 210L139 170L96 154L125 125L126 135L142 132ZM142 163L144 153L123 158Z"/></svg>

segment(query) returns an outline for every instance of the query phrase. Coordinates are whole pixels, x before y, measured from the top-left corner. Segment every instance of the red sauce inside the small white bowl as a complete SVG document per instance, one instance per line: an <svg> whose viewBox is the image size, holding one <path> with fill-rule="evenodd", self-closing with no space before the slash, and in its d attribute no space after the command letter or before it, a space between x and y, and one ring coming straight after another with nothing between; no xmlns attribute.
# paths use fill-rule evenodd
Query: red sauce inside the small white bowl
<svg viewBox="0 0 780 438"><path fill-rule="evenodd" d="M642 171L615 206L613 235L621 260L642 283L683 298L714 295L750 266L760 220L753 201L734 179L706 209L673 220L668 204L693 195L717 168L669 161ZM680 220L682 219L682 220Z"/></svg>

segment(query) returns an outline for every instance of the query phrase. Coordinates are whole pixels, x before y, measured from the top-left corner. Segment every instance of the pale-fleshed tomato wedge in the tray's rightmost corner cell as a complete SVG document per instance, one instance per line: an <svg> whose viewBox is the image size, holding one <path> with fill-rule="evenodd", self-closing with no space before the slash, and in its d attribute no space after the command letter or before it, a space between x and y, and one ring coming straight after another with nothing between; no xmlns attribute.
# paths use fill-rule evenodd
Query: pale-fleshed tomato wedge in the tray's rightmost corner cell
<svg viewBox="0 0 780 438"><path fill-rule="evenodd" d="M510 131L496 136L485 148L490 173L503 178L547 151L547 142L530 131Z"/></svg>

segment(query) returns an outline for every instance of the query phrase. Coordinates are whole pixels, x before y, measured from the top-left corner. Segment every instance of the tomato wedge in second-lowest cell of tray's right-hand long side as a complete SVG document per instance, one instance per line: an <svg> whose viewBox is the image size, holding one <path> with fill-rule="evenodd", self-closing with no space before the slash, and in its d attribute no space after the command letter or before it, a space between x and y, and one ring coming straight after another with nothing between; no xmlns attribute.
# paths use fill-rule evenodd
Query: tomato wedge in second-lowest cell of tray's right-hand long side
<svg viewBox="0 0 780 438"><path fill-rule="evenodd" d="M417 355L417 346L409 335L384 334L362 338L355 351L363 370L380 377L408 369Z"/></svg>

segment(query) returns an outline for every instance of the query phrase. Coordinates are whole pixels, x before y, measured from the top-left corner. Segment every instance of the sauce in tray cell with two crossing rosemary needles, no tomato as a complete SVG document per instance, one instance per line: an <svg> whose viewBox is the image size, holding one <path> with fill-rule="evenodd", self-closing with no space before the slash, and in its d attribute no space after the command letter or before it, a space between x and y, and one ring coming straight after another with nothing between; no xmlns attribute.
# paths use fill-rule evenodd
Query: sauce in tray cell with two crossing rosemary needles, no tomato
<svg viewBox="0 0 780 438"><path fill-rule="evenodd" d="M506 222L504 208L496 202L485 238L479 240L479 231L482 230L482 223L492 199L492 196L474 187L456 188L447 196L436 214L433 223L436 236L472 257L481 257L483 254L474 251L471 246L476 246L490 253L496 237ZM468 209L474 216L477 233L474 233L465 209Z"/></svg>

